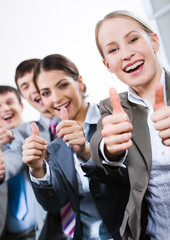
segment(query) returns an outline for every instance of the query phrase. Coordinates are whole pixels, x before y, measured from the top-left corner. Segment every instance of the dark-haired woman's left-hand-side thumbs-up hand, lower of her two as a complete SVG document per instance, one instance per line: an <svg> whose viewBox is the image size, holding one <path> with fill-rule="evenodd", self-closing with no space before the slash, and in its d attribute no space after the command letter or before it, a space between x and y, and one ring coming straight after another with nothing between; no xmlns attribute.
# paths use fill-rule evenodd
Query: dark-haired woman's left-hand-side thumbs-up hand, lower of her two
<svg viewBox="0 0 170 240"><path fill-rule="evenodd" d="M39 129L33 122L31 124L32 135L26 138L22 146L23 162L29 166L31 173L41 178L45 175L43 157L46 152L47 142L40 137Z"/></svg>

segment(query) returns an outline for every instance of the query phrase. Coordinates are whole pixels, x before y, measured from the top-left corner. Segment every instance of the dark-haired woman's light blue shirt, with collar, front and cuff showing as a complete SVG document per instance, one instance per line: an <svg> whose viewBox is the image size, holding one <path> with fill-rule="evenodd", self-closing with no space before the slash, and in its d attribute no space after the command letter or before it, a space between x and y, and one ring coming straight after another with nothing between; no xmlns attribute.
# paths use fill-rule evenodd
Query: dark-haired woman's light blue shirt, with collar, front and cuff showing
<svg viewBox="0 0 170 240"><path fill-rule="evenodd" d="M101 117L99 108L96 104L89 103L89 108L86 114L83 131L87 138L89 127L91 124L97 124L97 121ZM68 146L70 147L70 146ZM81 196L80 201L80 218L83 225L83 238L82 240L111 240L113 239L106 229L101 217L96 208L95 202L90 192L89 179L85 177L85 173L81 169L81 164L84 161L78 157L76 153L73 153L75 169L77 172L78 191ZM41 179L36 179L31 175L31 180L37 184L49 185L50 171L49 165L46 163L46 175ZM43 182L42 182L43 181Z"/></svg>

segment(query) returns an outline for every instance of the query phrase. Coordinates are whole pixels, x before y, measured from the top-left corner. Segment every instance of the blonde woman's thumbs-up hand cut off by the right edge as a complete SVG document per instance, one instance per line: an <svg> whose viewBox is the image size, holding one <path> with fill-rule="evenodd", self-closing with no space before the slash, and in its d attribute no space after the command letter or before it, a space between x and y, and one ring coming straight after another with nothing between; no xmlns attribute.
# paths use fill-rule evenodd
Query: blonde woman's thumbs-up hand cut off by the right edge
<svg viewBox="0 0 170 240"><path fill-rule="evenodd" d="M164 102L163 85L159 82L155 89L154 113L151 116L155 129L165 146L170 146L170 107Z"/></svg>

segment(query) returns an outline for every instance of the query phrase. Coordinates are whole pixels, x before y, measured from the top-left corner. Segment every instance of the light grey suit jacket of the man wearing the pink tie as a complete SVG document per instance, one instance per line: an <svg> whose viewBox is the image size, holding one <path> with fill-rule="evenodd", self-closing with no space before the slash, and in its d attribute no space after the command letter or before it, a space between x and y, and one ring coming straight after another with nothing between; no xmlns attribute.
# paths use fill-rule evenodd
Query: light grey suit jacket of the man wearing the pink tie
<svg viewBox="0 0 170 240"><path fill-rule="evenodd" d="M40 118L39 121L36 122L39 130L40 135L43 137L47 142L50 142L50 132L48 131L47 125ZM8 202L8 187L7 181L16 176L18 173L22 171L28 172L27 165L22 161L22 145L27 137L32 134L31 132L31 122L24 123L14 129L14 140L11 144L11 149L3 151L3 157L5 161L5 179L4 183L0 185L0 207L3 208L3 211L0 213L2 217L0 218L0 235L4 231L5 222L6 222L6 213L7 213L7 202ZM1 194L2 192L6 192L6 194ZM46 237L48 232L51 231L49 229L52 225L59 225L54 226L56 229L60 229L61 233L61 225L60 221L54 221L51 214L47 214L46 211L41 207L41 205L36 201L36 239L39 240L47 240L50 237ZM50 223L49 223L50 221ZM55 223L54 223L55 222ZM45 225L46 224L46 225ZM43 234L42 234L43 232ZM54 231L55 232L55 231ZM51 235L51 233L50 233ZM57 239L65 239L65 238L57 238Z"/></svg>

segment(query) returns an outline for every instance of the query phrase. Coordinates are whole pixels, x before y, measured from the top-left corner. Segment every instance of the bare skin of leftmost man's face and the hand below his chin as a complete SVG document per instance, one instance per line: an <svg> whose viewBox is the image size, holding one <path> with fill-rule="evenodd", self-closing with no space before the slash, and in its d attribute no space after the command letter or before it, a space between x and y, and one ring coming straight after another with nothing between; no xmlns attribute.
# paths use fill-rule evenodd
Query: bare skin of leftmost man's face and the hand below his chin
<svg viewBox="0 0 170 240"><path fill-rule="evenodd" d="M15 93L0 94L0 144L12 141L12 129L24 123L22 119L23 104L18 101Z"/></svg>

